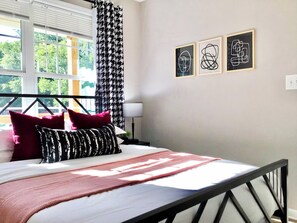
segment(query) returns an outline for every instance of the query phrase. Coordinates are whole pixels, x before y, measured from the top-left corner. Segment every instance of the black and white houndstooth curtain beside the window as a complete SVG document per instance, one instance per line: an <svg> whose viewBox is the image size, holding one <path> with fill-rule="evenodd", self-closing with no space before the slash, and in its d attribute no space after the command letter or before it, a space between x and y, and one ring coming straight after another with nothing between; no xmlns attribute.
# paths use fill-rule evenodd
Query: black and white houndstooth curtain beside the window
<svg viewBox="0 0 297 223"><path fill-rule="evenodd" d="M111 112L112 122L124 128L123 9L98 0L96 26L96 113Z"/></svg>

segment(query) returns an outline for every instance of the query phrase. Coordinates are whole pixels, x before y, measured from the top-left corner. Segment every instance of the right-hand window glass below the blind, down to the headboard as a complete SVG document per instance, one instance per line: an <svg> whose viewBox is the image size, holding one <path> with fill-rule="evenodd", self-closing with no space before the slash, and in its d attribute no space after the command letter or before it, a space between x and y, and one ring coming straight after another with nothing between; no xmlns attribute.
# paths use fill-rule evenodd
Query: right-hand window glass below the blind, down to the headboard
<svg viewBox="0 0 297 223"><path fill-rule="evenodd" d="M93 43L57 31L34 28L35 71L38 93L50 95L94 95ZM59 104L44 99L49 107ZM43 108L39 109L44 111Z"/></svg>

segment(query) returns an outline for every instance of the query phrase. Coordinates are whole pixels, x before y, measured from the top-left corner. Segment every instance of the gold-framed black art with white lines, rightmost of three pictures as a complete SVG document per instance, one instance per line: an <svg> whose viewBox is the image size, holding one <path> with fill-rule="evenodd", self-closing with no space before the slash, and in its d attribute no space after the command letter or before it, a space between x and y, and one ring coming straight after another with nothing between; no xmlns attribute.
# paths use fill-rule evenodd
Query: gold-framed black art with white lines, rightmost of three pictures
<svg viewBox="0 0 297 223"><path fill-rule="evenodd" d="M226 37L226 71L255 68L255 30L230 34Z"/></svg>

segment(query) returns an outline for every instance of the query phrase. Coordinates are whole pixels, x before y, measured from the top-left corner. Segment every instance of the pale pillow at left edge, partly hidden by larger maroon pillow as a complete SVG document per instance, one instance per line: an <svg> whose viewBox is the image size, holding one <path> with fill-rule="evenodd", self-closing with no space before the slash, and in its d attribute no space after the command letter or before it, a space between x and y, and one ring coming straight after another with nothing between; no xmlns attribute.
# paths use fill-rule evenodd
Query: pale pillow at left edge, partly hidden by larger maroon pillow
<svg viewBox="0 0 297 223"><path fill-rule="evenodd" d="M0 163L10 161L13 146L12 129L0 130Z"/></svg>

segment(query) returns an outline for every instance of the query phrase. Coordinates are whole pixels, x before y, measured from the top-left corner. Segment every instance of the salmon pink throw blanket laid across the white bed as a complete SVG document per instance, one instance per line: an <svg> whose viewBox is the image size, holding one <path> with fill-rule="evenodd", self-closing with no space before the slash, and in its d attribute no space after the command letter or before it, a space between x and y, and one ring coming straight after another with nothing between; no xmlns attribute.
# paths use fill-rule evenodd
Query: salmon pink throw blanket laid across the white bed
<svg viewBox="0 0 297 223"><path fill-rule="evenodd" d="M173 175L216 159L164 151L7 182L0 185L0 223L25 223L55 204Z"/></svg>

